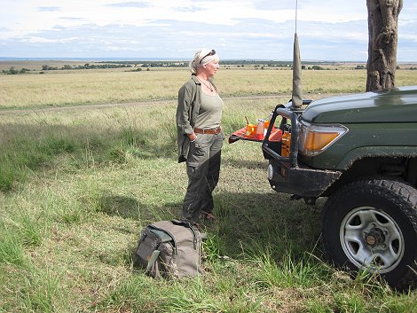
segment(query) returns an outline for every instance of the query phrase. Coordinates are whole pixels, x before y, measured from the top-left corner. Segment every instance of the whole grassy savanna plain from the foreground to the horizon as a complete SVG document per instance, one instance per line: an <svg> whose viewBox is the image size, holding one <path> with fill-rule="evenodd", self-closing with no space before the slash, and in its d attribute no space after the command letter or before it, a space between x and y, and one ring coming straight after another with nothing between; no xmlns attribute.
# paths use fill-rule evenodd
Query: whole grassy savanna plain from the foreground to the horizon
<svg viewBox="0 0 417 313"><path fill-rule="evenodd" d="M8 65L9 66L9 65ZM39 67L39 64L26 65ZM222 67L226 135L291 98L287 69ZM185 68L0 74L0 312L417 312L366 272L327 261L320 211L273 192L254 142L224 142L205 274L134 268L140 231L180 216L177 90ZM417 71L397 70L397 86ZM303 71L304 98L365 90L366 70Z"/></svg>

